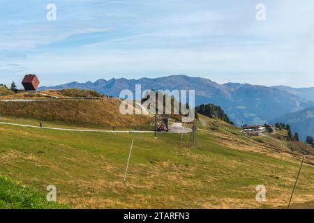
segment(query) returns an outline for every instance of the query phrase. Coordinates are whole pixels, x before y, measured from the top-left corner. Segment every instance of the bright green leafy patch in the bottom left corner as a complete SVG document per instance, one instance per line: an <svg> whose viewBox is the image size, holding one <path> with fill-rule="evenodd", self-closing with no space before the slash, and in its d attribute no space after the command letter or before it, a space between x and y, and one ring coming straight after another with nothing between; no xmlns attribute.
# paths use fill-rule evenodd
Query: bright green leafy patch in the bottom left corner
<svg viewBox="0 0 314 223"><path fill-rule="evenodd" d="M68 206L48 202L44 194L17 185L13 180L0 176L0 209L61 209Z"/></svg>

